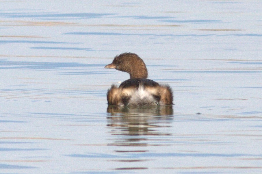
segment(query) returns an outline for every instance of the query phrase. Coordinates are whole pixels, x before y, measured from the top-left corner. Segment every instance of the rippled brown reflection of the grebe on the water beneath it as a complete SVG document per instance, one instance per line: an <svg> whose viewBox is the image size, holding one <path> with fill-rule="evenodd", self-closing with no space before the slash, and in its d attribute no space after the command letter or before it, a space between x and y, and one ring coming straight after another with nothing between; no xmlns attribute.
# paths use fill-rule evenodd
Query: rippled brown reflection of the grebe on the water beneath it
<svg viewBox="0 0 262 174"><path fill-rule="evenodd" d="M172 105L146 107L119 107L108 105L107 126L116 136L116 146L147 146L148 136L169 136L167 127L173 119ZM166 128L166 129L165 129ZM156 139L154 139L155 141Z"/></svg>

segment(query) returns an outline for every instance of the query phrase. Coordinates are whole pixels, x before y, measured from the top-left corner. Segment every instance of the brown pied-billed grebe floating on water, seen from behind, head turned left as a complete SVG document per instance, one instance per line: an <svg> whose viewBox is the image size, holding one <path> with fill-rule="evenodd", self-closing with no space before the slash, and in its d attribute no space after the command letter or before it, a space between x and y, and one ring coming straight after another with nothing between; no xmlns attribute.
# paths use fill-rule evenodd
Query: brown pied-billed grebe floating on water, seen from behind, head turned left
<svg viewBox="0 0 262 174"><path fill-rule="evenodd" d="M173 95L169 85L161 85L147 79L144 61L134 53L116 56L105 68L114 68L129 73L130 79L119 87L112 84L107 91L107 102L118 106L172 105Z"/></svg>

